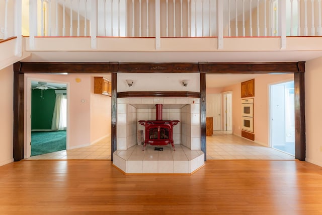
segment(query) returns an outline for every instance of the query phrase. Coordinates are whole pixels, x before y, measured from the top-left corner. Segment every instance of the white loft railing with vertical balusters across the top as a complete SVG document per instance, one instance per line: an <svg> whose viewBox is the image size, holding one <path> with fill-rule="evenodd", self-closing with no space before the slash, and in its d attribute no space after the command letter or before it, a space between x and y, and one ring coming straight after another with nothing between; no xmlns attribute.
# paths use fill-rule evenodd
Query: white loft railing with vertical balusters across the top
<svg viewBox="0 0 322 215"><path fill-rule="evenodd" d="M30 36L88 37L281 37L322 36L321 0L30 0L0 1L0 27L7 38L23 17ZM3 6L3 7L2 7ZM2 11L4 10L4 11ZM18 10L19 11L19 10ZM18 22L19 23L19 22Z"/></svg>

